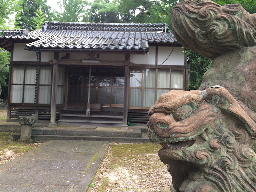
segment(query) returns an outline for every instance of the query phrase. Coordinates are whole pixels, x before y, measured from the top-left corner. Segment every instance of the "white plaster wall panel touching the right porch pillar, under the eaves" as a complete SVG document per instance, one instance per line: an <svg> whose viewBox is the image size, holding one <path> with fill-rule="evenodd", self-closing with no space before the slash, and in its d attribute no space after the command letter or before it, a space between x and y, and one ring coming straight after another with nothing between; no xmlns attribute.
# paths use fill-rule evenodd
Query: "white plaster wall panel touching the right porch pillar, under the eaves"
<svg viewBox="0 0 256 192"><path fill-rule="evenodd" d="M155 50L155 46L149 46L149 52L146 54L131 54L130 62L155 65Z"/></svg>

